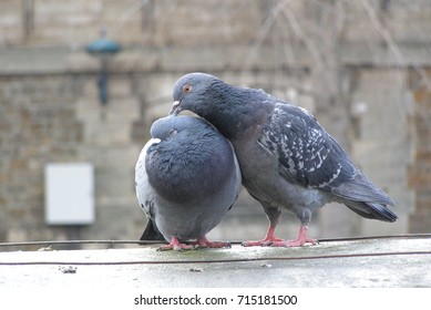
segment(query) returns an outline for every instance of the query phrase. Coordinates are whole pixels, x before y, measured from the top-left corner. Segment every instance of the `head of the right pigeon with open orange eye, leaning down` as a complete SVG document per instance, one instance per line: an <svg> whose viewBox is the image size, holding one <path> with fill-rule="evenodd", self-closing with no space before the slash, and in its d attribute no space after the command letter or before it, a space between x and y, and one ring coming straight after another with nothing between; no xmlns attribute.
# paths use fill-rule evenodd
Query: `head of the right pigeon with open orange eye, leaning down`
<svg viewBox="0 0 431 310"><path fill-rule="evenodd" d="M224 84L219 79L206 73L188 73L174 85L174 104L170 115L177 115L184 110L205 116L205 111L214 99L216 85Z"/></svg>

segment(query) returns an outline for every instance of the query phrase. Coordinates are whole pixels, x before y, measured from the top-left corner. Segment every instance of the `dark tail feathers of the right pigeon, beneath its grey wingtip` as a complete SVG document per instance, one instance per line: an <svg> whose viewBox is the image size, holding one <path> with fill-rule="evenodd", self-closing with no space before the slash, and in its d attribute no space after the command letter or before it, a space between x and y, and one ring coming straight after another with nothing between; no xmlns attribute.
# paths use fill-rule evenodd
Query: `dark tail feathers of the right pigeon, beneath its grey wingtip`
<svg viewBox="0 0 431 310"><path fill-rule="evenodd" d="M398 216L392 213L386 205L373 203L361 203L345 200L343 204L356 214L365 218L379 219L382 221L393 223Z"/></svg>

